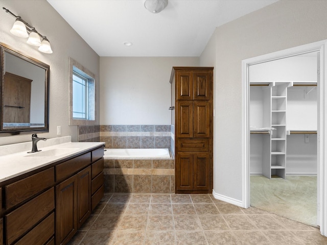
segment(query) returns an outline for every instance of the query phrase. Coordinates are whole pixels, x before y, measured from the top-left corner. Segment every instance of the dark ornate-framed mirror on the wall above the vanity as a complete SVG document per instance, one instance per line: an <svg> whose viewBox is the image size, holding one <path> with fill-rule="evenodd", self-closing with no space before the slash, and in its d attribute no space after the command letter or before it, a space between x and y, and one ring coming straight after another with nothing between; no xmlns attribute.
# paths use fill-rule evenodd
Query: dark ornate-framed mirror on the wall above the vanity
<svg viewBox="0 0 327 245"><path fill-rule="evenodd" d="M1 43L1 129L49 132L50 66Z"/></svg>

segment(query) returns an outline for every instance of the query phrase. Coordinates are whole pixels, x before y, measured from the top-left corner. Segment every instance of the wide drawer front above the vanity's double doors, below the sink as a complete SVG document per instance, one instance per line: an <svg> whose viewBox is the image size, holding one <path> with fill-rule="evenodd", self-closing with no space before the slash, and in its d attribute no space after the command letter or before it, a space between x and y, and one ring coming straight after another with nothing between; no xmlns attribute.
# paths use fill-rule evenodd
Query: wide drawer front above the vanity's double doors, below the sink
<svg viewBox="0 0 327 245"><path fill-rule="evenodd" d="M91 163L91 153L85 153L56 166L56 181L72 176L78 170Z"/></svg>

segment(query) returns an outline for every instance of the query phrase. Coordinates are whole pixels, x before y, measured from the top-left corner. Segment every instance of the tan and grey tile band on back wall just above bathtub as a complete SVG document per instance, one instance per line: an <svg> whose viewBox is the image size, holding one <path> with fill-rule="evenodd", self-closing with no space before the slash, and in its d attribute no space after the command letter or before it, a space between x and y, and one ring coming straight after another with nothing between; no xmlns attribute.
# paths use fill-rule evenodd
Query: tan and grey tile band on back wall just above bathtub
<svg viewBox="0 0 327 245"><path fill-rule="evenodd" d="M106 148L168 148L170 125L101 125L100 141Z"/></svg>

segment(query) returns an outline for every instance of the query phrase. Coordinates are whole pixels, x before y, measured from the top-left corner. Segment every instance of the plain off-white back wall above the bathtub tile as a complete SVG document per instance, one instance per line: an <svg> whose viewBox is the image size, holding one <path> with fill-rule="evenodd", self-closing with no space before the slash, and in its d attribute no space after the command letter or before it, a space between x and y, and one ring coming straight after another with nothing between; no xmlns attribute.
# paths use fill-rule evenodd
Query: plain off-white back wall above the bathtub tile
<svg viewBox="0 0 327 245"><path fill-rule="evenodd" d="M198 57L101 57L101 125L170 125L173 66Z"/></svg>

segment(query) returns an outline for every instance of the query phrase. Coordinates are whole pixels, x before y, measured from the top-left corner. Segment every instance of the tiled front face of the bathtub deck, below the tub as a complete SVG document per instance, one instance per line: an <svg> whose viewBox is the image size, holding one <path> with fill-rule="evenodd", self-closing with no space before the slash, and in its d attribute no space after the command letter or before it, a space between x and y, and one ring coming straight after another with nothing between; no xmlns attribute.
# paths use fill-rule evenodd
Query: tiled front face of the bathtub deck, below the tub
<svg viewBox="0 0 327 245"><path fill-rule="evenodd" d="M104 159L105 192L174 193L175 161Z"/></svg>

